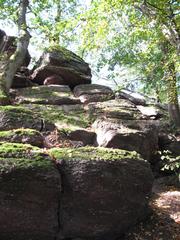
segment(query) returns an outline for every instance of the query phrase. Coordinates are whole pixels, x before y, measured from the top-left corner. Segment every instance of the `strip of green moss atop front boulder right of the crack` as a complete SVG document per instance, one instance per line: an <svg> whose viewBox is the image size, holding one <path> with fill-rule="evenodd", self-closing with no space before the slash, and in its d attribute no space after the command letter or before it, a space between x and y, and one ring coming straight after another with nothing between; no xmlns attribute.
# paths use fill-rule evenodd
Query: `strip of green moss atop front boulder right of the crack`
<svg viewBox="0 0 180 240"><path fill-rule="evenodd" d="M121 159L141 159L140 155L134 151L126 151L110 148L53 148L49 154L55 159L62 160L121 160Z"/></svg>

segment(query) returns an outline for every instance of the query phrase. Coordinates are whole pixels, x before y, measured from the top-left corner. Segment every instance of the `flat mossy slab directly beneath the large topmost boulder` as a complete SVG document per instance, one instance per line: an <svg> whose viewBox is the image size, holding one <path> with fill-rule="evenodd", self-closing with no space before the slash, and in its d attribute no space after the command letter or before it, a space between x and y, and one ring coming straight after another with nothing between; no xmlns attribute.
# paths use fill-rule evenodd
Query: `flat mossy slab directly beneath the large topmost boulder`
<svg viewBox="0 0 180 240"><path fill-rule="evenodd" d="M13 91L15 100L19 103L68 105L78 104L80 100L74 98L68 86L48 85L22 88Z"/></svg>

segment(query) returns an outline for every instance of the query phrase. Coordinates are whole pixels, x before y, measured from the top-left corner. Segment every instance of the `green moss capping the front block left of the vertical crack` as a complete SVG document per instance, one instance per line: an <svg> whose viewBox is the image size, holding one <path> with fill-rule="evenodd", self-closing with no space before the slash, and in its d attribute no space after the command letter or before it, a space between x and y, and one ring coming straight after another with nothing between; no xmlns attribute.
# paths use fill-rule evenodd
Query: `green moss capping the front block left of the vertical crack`
<svg viewBox="0 0 180 240"><path fill-rule="evenodd" d="M0 173L16 169L51 169L48 156L29 144L0 143Z"/></svg>

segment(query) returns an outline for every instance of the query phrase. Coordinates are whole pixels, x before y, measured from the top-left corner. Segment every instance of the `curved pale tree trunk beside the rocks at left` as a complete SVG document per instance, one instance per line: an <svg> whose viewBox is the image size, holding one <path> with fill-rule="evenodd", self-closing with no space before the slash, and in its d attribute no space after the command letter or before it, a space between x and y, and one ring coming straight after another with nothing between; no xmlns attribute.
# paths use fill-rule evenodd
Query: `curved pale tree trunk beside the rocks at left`
<svg viewBox="0 0 180 240"><path fill-rule="evenodd" d="M26 11L29 5L28 0L21 0L19 4L19 19L18 30L19 37L17 41L16 51L9 59L2 55L0 72L0 104L4 103L4 98L8 99L8 92L13 83L14 75L17 69L21 66L29 45L30 34L27 31L26 25ZM4 58L4 59L3 59Z"/></svg>

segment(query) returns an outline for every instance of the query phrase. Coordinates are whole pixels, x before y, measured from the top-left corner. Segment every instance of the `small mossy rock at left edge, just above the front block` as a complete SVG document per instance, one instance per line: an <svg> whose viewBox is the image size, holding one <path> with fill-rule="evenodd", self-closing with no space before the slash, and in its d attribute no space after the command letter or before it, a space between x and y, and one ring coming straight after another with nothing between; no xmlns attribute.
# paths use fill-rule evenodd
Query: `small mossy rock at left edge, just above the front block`
<svg viewBox="0 0 180 240"><path fill-rule="evenodd" d="M37 147L44 146L44 138L40 132L24 128L0 131L0 142L28 143Z"/></svg>

